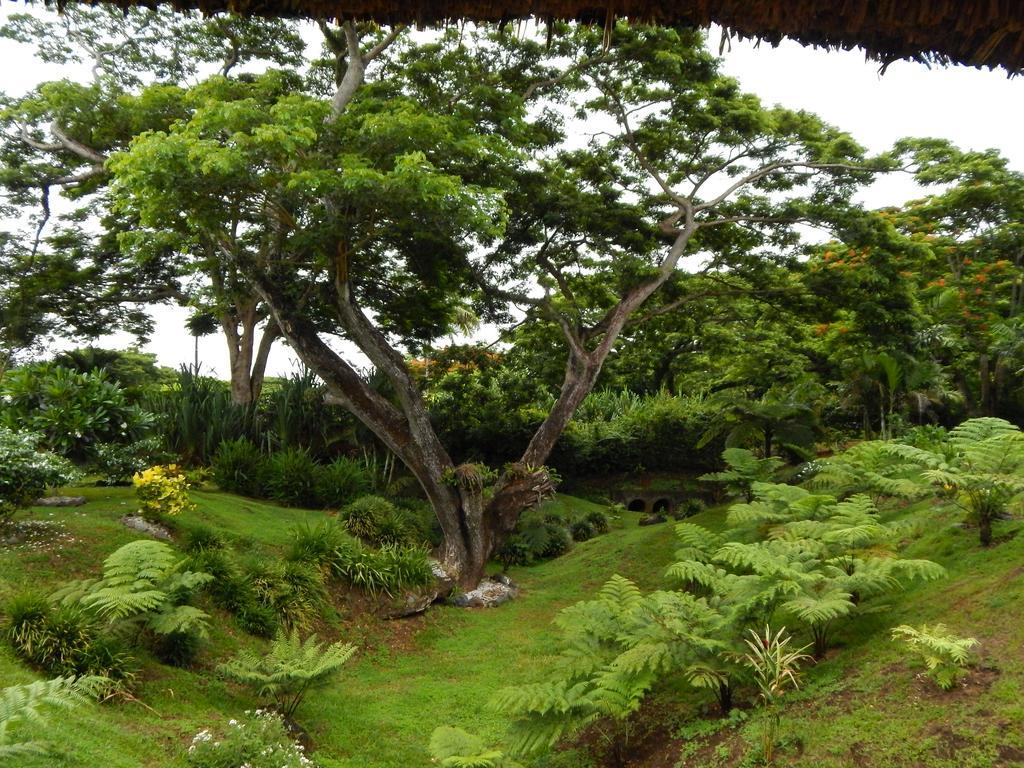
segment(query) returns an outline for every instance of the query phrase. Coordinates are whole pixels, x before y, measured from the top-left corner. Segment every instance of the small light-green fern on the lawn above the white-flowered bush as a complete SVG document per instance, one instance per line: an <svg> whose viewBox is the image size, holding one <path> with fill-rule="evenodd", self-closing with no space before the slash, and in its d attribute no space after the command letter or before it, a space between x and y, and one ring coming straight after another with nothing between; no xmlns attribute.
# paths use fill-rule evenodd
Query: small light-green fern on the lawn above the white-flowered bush
<svg viewBox="0 0 1024 768"><path fill-rule="evenodd" d="M257 695L272 698L281 714L290 718L306 693L326 685L353 653L354 645L337 642L325 646L315 635L303 641L295 630L289 635L279 634L268 653L243 649L217 670L253 688Z"/></svg>

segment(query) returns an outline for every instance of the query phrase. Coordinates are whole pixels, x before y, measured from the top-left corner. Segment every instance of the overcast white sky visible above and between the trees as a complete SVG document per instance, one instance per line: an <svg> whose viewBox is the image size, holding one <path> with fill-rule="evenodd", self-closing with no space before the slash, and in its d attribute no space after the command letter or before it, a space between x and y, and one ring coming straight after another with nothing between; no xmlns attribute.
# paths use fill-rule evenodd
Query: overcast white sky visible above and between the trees
<svg viewBox="0 0 1024 768"><path fill-rule="evenodd" d="M0 5L0 22L24 6ZM711 33L718 46L719 34ZM929 70L900 61L879 74L879 65L862 53L824 52L783 42L778 48L733 41L725 54L725 70L742 86L771 104L805 109L849 131L872 152L882 152L903 136L941 136L968 148L997 148L1011 165L1024 169L1024 78L1008 79L1001 70L965 67ZM35 60L28 46L0 41L0 91L22 93L38 82L69 76L59 68ZM914 196L906 178L885 177L867 189L872 207L900 203ZM184 332L184 310L159 308L153 341L144 347L162 365L177 367L193 359L193 340ZM100 343L124 346L127 338ZM201 340L200 357L206 372L227 373L227 354L221 337ZM287 374L297 362L287 347L278 345L269 375Z"/></svg>

